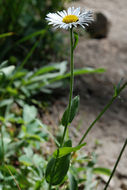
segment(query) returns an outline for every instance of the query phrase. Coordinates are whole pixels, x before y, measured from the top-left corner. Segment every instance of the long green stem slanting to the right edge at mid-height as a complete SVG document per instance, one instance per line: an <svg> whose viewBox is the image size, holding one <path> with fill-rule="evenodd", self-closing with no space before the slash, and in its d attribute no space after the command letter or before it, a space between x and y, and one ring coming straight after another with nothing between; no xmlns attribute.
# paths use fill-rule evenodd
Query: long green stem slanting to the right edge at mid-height
<svg viewBox="0 0 127 190"><path fill-rule="evenodd" d="M81 140L79 141L78 145L80 145L84 139L86 138L86 136L88 135L88 133L90 132L90 130L93 128L94 124L101 118L101 116L106 112L106 110L111 106L111 104L114 102L114 100L119 96L120 92L126 87L127 82L125 82L123 84L123 86L119 89L119 91L117 92L116 95L114 95L112 97L112 99L109 101L109 103L104 107L104 109L101 111L101 113L97 116L97 118L91 123L91 125L88 127L87 131L85 132L85 134L82 136Z"/></svg>

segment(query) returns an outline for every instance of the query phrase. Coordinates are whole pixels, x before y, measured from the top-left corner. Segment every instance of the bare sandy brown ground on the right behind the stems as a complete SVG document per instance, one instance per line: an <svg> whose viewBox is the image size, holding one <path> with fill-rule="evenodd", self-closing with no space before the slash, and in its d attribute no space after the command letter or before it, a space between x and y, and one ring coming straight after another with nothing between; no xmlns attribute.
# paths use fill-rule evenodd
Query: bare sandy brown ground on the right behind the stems
<svg viewBox="0 0 127 190"><path fill-rule="evenodd" d="M76 49L75 67L106 69L104 74L84 75L75 79L74 94L80 95L81 103L70 130L75 142L78 142L89 124L110 100L113 85L121 78L127 79L127 0L80 0L75 1L73 6L102 12L111 23L107 38L97 40L81 36ZM66 96L55 103L54 109L59 118L66 104ZM76 130L79 123L80 130ZM98 165L112 169L126 138L127 89L93 127L86 138L85 151L94 151L95 141L98 140L100 145L95 151L98 154ZM109 189L127 190L127 148Z"/></svg>

